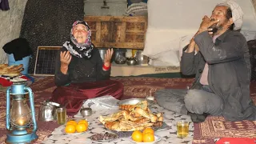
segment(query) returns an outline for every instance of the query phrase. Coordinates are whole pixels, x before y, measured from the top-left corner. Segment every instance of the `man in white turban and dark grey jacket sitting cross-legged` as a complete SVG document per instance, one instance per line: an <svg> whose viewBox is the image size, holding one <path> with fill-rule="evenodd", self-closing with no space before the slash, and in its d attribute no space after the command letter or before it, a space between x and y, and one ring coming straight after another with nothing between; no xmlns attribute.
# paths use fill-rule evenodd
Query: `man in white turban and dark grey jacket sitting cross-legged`
<svg viewBox="0 0 256 144"><path fill-rule="evenodd" d="M215 6L204 16L198 32L184 48L182 74L196 74L190 90L158 90L160 106L190 114L203 122L208 114L226 120L256 120L250 98L250 56L242 26L242 9L234 1Z"/></svg>

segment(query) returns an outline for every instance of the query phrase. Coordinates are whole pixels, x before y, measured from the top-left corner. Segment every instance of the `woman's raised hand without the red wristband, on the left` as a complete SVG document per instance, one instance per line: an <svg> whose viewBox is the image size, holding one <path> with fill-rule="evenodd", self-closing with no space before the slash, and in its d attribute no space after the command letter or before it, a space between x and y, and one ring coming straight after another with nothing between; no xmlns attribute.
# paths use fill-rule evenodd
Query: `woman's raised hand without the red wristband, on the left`
<svg viewBox="0 0 256 144"><path fill-rule="evenodd" d="M62 74L67 74L72 56L69 51L61 51L60 58Z"/></svg>

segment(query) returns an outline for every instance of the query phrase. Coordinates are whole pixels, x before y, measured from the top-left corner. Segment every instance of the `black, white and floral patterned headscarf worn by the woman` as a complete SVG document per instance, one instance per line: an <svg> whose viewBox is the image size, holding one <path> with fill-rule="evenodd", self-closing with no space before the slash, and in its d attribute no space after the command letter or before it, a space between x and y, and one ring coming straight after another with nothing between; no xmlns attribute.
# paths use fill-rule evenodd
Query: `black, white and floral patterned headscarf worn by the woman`
<svg viewBox="0 0 256 144"><path fill-rule="evenodd" d="M78 41L74 38L73 35L73 29L74 26L77 26L78 24L85 25L88 34L86 38L86 42L84 43L78 43ZM66 47L66 50L69 50L70 54L74 55L78 58L90 58L91 57L91 51L94 49L94 46L91 44L91 31L90 27L88 26L87 22L84 21L76 21L72 25L72 29L70 31L70 41L66 41L63 46Z"/></svg>

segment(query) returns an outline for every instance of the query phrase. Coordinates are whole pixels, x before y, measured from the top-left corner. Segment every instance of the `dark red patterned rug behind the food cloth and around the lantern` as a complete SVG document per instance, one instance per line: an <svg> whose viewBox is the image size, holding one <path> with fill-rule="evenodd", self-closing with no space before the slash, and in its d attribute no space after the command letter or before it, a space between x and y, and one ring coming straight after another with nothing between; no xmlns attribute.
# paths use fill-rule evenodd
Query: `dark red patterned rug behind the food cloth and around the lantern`
<svg viewBox="0 0 256 144"><path fill-rule="evenodd" d="M191 78L112 78L124 85L124 97L126 98L145 98L149 91L154 91L164 88L186 88L193 81ZM39 79L30 86L34 92L35 110L38 116L40 102L50 98L52 91L55 89L54 78L46 77ZM6 139L6 93L0 92L0 143L4 143ZM38 140L33 143L41 143L44 138L58 127L57 122L38 122L39 136Z"/></svg>

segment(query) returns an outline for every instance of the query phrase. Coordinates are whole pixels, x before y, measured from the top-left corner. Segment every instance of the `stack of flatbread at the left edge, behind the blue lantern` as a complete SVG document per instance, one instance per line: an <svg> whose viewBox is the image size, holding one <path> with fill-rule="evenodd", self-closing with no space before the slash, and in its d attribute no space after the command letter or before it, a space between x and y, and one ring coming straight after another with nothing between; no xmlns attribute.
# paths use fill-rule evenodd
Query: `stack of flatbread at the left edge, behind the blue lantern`
<svg viewBox="0 0 256 144"><path fill-rule="evenodd" d="M8 64L0 64L0 75L6 75L10 77L21 75L24 70L23 65L8 66Z"/></svg>

